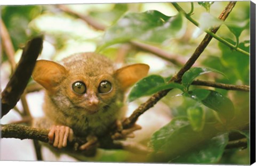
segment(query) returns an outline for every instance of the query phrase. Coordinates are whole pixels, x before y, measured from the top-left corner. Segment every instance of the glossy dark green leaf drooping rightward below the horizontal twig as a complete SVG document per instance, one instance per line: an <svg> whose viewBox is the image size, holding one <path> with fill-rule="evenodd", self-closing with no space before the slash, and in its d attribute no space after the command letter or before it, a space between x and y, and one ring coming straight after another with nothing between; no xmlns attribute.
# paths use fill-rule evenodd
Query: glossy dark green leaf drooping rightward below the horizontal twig
<svg viewBox="0 0 256 166"><path fill-rule="evenodd" d="M229 98L208 89L194 89L188 92L191 98L196 99L210 109L218 112L225 119L234 117L235 107Z"/></svg>

